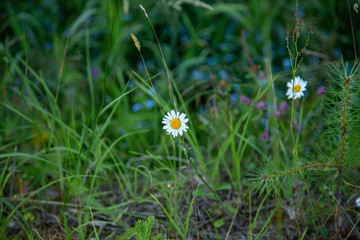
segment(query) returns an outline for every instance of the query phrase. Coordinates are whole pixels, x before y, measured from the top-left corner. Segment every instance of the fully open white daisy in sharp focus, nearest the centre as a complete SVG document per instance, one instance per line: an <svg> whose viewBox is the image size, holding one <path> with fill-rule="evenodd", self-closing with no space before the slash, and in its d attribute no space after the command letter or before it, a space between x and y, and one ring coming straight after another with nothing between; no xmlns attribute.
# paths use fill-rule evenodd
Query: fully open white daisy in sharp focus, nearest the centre
<svg viewBox="0 0 360 240"><path fill-rule="evenodd" d="M188 121L189 119L186 118L185 113L175 113L174 110L171 110L163 118L163 129L166 130L166 133L168 135L172 134L174 137L177 137L177 135L179 134L180 136L182 136L183 132L187 132L187 129L189 128L188 126L186 126L186 123Z"/></svg>

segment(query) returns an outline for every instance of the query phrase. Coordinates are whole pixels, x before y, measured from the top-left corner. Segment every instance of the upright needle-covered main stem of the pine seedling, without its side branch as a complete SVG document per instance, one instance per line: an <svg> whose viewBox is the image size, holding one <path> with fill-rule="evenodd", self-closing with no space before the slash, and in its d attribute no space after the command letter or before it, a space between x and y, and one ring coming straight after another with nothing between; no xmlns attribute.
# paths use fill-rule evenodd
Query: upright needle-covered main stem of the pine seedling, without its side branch
<svg viewBox="0 0 360 240"><path fill-rule="evenodd" d="M355 62L350 69L341 58L341 67L329 66L329 84L327 86L327 157L337 164L336 181L333 189L337 189L335 197L338 205L342 204L341 185L352 182L352 168L359 165L360 154L360 107L359 81ZM350 70L349 70L350 69ZM349 178L345 180L344 178Z"/></svg>

